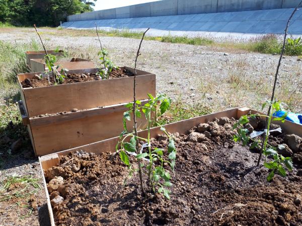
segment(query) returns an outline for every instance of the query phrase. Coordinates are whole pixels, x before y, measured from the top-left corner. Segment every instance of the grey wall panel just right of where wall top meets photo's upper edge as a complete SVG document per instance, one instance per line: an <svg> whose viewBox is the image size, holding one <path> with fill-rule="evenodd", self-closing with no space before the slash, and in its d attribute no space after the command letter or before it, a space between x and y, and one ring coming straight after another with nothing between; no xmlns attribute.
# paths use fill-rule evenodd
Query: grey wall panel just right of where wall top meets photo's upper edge
<svg viewBox="0 0 302 226"><path fill-rule="evenodd" d="M218 0L178 0L178 15L216 13Z"/></svg>

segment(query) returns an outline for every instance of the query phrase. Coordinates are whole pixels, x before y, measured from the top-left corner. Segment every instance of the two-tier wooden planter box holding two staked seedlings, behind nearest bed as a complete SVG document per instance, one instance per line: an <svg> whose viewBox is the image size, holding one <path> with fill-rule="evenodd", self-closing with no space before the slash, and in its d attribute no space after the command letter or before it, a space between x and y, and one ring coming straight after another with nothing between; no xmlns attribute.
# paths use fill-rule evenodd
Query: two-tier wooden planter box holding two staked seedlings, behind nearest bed
<svg viewBox="0 0 302 226"><path fill-rule="evenodd" d="M70 73L97 70L71 70ZM18 79L22 120L37 156L112 138L123 130L124 104L133 100L133 77L23 88L20 82L35 74L19 74ZM147 99L147 93L155 95L155 74L140 70L137 74L137 99ZM70 112L73 108L79 111ZM56 114L64 111L67 114ZM45 114L53 115L38 117ZM139 119L140 129L145 128L145 122L143 117Z"/></svg>

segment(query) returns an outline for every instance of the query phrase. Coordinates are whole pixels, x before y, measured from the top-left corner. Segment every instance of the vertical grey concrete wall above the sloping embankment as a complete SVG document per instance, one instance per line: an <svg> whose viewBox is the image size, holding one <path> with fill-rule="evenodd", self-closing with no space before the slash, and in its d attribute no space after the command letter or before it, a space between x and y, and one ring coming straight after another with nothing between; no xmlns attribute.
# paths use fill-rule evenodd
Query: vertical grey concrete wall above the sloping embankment
<svg viewBox="0 0 302 226"><path fill-rule="evenodd" d="M67 21L224 13L295 8L300 0L162 0L67 17Z"/></svg>

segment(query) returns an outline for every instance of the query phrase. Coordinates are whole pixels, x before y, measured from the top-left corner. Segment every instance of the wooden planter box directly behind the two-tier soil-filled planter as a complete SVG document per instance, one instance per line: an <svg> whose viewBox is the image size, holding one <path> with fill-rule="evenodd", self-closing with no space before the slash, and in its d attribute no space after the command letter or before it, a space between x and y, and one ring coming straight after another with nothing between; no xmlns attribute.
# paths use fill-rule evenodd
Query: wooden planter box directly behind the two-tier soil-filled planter
<svg viewBox="0 0 302 226"><path fill-rule="evenodd" d="M61 68L75 70L95 67L95 63L93 61L75 57L59 58L57 59L57 62L55 62L55 65L60 65L58 71L60 71ZM48 67L45 64L44 59L31 59L30 67L32 72L48 71Z"/></svg>

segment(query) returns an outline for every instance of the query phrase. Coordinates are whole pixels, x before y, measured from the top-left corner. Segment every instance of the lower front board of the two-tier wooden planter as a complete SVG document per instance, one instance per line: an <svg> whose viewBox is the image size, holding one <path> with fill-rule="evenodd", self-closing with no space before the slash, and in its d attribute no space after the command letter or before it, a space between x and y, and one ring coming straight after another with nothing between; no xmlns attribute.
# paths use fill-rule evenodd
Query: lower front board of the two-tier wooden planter
<svg viewBox="0 0 302 226"><path fill-rule="evenodd" d="M119 136L123 131L123 112L32 126L36 154L43 156ZM132 123L127 122L128 128L131 128ZM144 117L137 119L137 128L146 128Z"/></svg>

